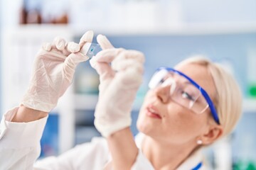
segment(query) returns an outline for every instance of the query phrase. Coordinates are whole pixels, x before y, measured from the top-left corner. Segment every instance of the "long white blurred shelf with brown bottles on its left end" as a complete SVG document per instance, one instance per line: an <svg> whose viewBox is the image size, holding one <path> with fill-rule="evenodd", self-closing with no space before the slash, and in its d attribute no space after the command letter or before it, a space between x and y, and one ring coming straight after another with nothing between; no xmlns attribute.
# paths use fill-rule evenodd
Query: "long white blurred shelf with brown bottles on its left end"
<svg viewBox="0 0 256 170"><path fill-rule="evenodd" d="M16 33L17 36L33 36L40 33L43 37L47 30L56 33L55 36L70 33L73 37L80 37L87 30L93 30L95 35L221 35L256 33L256 23L180 23L174 26L75 26L61 24L28 24L15 28L8 28L4 32Z"/></svg>

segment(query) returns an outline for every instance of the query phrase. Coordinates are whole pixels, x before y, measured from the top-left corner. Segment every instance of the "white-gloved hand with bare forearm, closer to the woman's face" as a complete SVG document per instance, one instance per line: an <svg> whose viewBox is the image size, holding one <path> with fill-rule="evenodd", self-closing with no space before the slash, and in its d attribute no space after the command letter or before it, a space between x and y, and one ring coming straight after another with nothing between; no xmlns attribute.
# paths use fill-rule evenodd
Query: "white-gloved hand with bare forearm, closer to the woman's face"
<svg viewBox="0 0 256 170"><path fill-rule="evenodd" d="M103 35L97 36L102 51L90 64L100 74L100 95L95 109L95 127L107 143L112 169L131 169L138 155L129 126L132 103L144 72L144 55L136 50L114 48Z"/></svg>

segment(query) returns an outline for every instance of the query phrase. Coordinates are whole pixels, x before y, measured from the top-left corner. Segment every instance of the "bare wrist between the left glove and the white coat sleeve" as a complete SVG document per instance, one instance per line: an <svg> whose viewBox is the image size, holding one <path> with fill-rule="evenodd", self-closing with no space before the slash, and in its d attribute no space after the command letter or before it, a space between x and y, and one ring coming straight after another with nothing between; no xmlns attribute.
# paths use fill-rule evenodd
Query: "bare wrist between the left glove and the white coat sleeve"
<svg viewBox="0 0 256 170"><path fill-rule="evenodd" d="M18 111L14 115L14 118L11 120L11 122L28 123L35 120L39 120L41 118L45 118L47 115L48 112L37 111L32 108L26 108L25 106L21 105L18 108Z"/></svg>

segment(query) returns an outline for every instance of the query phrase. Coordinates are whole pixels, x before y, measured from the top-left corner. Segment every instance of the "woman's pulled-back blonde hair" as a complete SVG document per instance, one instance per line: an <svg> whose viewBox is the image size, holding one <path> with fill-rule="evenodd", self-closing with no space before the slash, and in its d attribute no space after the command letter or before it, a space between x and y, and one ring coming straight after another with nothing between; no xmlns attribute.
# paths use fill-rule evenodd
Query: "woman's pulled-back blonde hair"
<svg viewBox="0 0 256 170"><path fill-rule="evenodd" d="M208 69L215 84L215 98L212 98L216 111L223 126L223 135L228 135L235 128L242 115L242 94L233 75L220 64L211 62L203 56L193 56L178 65L200 64Z"/></svg>

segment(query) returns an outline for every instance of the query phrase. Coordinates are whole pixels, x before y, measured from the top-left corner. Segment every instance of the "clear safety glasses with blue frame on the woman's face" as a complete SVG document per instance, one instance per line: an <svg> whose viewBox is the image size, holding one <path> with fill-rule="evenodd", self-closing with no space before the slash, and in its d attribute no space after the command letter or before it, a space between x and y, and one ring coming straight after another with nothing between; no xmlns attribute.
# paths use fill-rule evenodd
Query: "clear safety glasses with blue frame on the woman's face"
<svg viewBox="0 0 256 170"><path fill-rule="evenodd" d="M220 125L217 111L209 95L201 86L182 72L169 67L160 67L149 81L150 89L158 86L170 86L169 96L171 99L194 113L201 114L207 108L210 108L213 119Z"/></svg>

